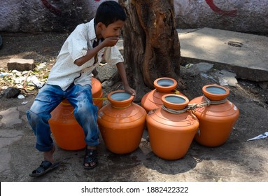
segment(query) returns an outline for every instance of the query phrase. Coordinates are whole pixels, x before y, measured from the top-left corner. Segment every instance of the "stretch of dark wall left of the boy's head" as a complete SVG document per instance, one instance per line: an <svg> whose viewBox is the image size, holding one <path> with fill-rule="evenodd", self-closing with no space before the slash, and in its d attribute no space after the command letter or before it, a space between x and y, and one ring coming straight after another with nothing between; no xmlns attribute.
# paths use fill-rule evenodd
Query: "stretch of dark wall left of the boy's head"
<svg viewBox="0 0 268 196"><path fill-rule="evenodd" d="M69 31L88 22L99 0L0 0L0 31Z"/></svg>

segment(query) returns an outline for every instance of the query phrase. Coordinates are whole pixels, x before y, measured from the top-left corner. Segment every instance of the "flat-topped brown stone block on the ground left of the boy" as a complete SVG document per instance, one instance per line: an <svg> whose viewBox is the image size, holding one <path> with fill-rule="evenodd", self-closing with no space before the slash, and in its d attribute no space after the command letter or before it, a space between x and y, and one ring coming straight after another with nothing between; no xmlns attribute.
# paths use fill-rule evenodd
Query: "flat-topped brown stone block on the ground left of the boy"
<svg viewBox="0 0 268 196"><path fill-rule="evenodd" d="M34 59L10 59L8 62L8 70L29 71L34 68Z"/></svg>

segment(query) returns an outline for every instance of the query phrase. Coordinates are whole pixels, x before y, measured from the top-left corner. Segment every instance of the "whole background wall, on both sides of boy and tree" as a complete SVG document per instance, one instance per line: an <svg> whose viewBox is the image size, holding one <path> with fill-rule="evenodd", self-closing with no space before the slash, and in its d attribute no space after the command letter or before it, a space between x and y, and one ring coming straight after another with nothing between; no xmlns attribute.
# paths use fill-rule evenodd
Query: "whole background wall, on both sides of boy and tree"
<svg viewBox="0 0 268 196"><path fill-rule="evenodd" d="M0 31L70 31L104 0L0 0ZM177 28L268 34L267 0L174 0Z"/></svg>

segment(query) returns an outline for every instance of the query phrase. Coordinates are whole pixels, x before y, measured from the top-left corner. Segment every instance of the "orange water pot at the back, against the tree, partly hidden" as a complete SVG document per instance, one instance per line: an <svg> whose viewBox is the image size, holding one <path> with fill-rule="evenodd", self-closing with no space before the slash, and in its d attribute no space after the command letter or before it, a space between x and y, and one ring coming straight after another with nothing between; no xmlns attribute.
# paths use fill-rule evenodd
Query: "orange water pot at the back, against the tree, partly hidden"
<svg viewBox="0 0 268 196"><path fill-rule="evenodd" d="M186 97L184 94L176 90L177 84L178 83L173 78L164 77L156 79L153 83L155 89L143 95L141 106L148 113L149 111L162 106L162 96L164 94L179 94Z"/></svg>

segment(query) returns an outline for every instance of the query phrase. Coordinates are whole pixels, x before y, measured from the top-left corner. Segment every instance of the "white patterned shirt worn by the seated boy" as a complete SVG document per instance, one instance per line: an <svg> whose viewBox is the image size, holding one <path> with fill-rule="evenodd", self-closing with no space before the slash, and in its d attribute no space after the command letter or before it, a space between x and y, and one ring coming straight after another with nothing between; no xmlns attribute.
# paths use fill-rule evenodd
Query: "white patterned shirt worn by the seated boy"
<svg viewBox="0 0 268 196"><path fill-rule="evenodd" d="M57 56L57 61L50 71L47 84L58 85L66 90L71 83L91 85L91 72L101 62L102 56L108 64L118 64L124 59L117 46L102 48L98 52L98 62L94 64L94 57L82 66L74 64L76 59L87 54L92 49L93 42L97 41L94 31L94 19L78 25L69 35Z"/></svg>

